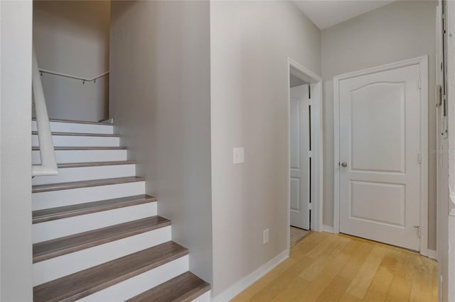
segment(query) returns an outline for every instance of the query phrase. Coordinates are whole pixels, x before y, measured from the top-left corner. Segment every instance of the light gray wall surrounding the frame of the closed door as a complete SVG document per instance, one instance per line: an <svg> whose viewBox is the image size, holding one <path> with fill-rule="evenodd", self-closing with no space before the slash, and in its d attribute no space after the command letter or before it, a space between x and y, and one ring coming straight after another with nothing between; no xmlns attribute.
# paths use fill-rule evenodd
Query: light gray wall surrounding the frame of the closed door
<svg viewBox="0 0 455 302"><path fill-rule="evenodd" d="M437 1L397 1L322 30L324 225L333 225L333 76L429 55L429 148L436 149L436 5ZM431 153L428 195L428 247L435 250L436 155Z"/></svg>

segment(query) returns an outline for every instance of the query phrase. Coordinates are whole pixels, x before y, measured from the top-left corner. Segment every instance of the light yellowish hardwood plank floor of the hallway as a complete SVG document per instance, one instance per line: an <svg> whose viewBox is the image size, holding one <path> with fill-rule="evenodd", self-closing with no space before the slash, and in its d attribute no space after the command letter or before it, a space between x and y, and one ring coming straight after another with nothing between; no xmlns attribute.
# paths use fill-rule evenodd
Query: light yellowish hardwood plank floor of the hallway
<svg viewBox="0 0 455 302"><path fill-rule="evenodd" d="M232 299L240 301L437 301L437 262L378 242L311 233L289 259Z"/></svg>

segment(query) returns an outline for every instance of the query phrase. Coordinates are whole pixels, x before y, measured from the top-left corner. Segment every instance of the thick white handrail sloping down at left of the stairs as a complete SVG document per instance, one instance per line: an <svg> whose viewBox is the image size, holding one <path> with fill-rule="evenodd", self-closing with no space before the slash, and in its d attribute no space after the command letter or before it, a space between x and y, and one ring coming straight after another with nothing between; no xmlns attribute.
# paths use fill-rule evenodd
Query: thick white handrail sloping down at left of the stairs
<svg viewBox="0 0 455 302"><path fill-rule="evenodd" d="M38 60L33 49L32 58L32 87L33 99L36 113L36 127L38 128L38 140L40 144L41 164L33 164L31 169L32 177L58 174L57 161L50 133L48 109L45 106L43 84L38 69Z"/></svg>

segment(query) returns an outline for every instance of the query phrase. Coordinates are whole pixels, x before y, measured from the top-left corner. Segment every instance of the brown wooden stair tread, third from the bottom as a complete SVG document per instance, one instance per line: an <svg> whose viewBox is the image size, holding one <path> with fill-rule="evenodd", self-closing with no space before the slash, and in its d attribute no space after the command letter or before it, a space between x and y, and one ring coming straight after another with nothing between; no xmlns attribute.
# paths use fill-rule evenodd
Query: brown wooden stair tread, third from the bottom
<svg viewBox="0 0 455 302"><path fill-rule="evenodd" d="M160 216L152 216L118 225L110 225L106 228L38 242L33 244L33 263L79 250L85 250L89 247L95 247L96 245L102 245L140 233L146 233L158 228L164 228L168 225L171 225L171 220Z"/></svg>

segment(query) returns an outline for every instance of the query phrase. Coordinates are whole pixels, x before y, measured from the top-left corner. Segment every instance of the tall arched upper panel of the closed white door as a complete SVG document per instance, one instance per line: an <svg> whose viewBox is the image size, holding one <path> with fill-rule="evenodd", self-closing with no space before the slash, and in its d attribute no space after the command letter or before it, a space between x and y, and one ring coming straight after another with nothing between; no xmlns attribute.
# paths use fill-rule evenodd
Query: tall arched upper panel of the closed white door
<svg viewBox="0 0 455 302"><path fill-rule="evenodd" d="M352 169L405 172L404 83L373 83L351 91L351 106Z"/></svg>

